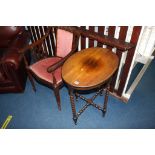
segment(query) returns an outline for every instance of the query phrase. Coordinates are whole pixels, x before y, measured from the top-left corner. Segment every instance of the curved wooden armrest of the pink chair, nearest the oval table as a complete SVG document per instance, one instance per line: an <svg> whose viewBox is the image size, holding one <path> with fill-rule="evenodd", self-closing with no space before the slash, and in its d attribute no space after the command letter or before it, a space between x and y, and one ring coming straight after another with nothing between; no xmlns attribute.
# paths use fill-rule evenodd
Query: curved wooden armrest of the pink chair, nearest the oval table
<svg viewBox="0 0 155 155"><path fill-rule="evenodd" d="M70 53L69 53L68 55L66 55L64 58L62 58L59 62L56 62L55 64L49 66L49 67L47 68L47 72L51 73L51 72L53 72L54 70L56 70L57 68L59 68L60 66L62 66L63 63L64 63L74 52L76 52L77 47L78 47L78 41L79 41L79 36L77 36L77 38L76 38L76 41L75 41L73 50L70 51Z"/></svg>

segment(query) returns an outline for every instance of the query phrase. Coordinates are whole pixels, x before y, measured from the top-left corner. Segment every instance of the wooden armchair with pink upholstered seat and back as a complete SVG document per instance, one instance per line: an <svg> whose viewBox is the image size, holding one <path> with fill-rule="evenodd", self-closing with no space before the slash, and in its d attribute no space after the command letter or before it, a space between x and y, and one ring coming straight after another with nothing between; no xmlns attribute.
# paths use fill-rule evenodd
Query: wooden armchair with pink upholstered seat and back
<svg viewBox="0 0 155 155"><path fill-rule="evenodd" d="M55 55L49 57L45 47L45 40L52 33L56 38L56 49ZM39 61L35 61L35 63L30 66L28 66L25 59L28 77L34 91L36 91L36 88L33 77L39 80L39 82L53 88L59 110L61 110L59 89L63 85L61 66L65 60L77 50L78 38L78 34L71 29L67 31L65 27L48 27L47 32L43 37L20 51L20 53L23 54L26 50L31 49L32 53L35 55L34 57L40 58Z"/></svg>

